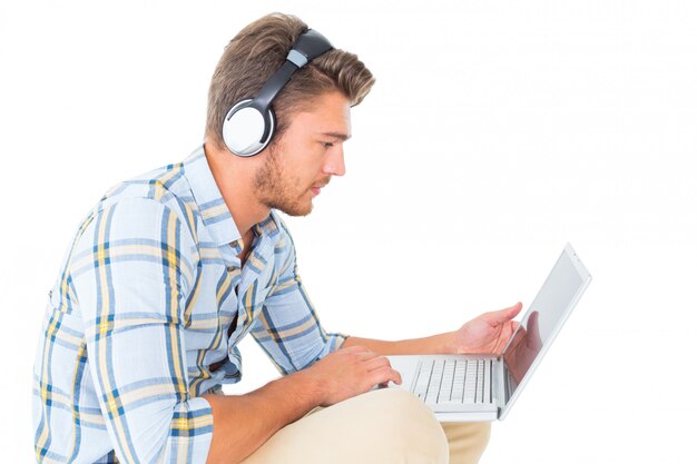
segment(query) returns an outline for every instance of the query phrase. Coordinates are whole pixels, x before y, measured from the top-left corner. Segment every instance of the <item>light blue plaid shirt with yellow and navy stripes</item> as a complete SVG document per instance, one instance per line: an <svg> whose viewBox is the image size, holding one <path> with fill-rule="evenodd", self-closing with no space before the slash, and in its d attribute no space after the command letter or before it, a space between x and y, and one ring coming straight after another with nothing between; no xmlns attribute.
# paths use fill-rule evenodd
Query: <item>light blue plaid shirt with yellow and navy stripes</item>
<svg viewBox="0 0 697 464"><path fill-rule="evenodd" d="M39 462L204 463L213 415L200 395L239 382L247 333L283 374L341 346L276 213L253 230L240 269L242 238L203 147L105 195L49 293L35 363Z"/></svg>

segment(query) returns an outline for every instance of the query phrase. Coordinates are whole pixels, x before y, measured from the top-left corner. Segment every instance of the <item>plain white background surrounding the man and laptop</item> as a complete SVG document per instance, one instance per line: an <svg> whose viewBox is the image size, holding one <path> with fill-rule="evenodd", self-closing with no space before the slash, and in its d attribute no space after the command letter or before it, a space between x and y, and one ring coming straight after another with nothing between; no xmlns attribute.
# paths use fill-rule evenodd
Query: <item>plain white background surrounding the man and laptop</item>
<svg viewBox="0 0 697 464"><path fill-rule="evenodd" d="M571 241L593 283L482 463L695 462L694 1L0 4L2 462L33 460L35 346L75 228L196 148L224 46L271 11L377 78L347 175L288 220L326 328L397 339L529 304ZM229 393L276 376L242 349Z"/></svg>

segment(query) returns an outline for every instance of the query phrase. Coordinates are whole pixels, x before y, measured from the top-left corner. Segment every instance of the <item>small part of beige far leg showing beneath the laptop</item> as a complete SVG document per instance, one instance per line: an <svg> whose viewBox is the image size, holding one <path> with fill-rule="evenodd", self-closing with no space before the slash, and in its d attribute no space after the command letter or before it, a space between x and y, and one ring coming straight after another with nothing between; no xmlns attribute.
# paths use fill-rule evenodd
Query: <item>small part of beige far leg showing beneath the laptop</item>
<svg viewBox="0 0 697 464"><path fill-rule="evenodd" d="M491 434L489 422L442 423L450 445L450 464L477 464Z"/></svg>

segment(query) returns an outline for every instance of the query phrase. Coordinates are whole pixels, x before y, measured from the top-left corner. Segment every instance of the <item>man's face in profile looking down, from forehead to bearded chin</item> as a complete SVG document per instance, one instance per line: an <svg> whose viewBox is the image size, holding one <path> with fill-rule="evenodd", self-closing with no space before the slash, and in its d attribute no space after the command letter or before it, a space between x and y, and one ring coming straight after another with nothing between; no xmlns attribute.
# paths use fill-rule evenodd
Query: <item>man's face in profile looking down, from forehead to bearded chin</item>
<svg viewBox="0 0 697 464"><path fill-rule="evenodd" d="M306 216L312 211L312 199L332 176L345 174L350 108L346 98L331 92L291 118L285 132L263 154L266 159L255 174L255 195L264 206L289 216Z"/></svg>

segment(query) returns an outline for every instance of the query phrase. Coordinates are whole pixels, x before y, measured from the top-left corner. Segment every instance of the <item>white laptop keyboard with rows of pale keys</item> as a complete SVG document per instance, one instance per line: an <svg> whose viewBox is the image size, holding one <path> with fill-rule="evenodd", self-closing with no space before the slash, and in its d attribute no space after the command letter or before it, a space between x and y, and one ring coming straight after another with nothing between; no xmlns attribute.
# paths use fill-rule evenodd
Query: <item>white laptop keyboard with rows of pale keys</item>
<svg viewBox="0 0 697 464"><path fill-rule="evenodd" d="M491 403L492 359L419 363L412 393L426 404Z"/></svg>

